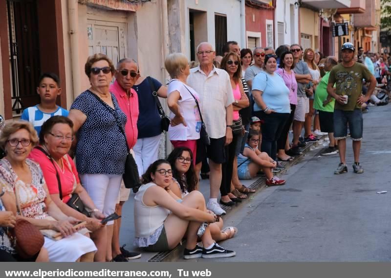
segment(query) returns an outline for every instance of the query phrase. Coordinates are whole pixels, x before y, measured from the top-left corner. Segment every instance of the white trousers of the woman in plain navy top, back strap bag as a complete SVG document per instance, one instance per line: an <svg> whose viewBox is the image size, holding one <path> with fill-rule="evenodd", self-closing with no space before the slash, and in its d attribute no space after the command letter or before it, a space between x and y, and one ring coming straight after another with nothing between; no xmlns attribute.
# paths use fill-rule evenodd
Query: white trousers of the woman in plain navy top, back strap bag
<svg viewBox="0 0 391 278"><path fill-rule="evenodd" d="M162 135L137 139L133 147L134 160L136 161L138 174L141 176L148 167L157 160L159 143Z"/></svg>

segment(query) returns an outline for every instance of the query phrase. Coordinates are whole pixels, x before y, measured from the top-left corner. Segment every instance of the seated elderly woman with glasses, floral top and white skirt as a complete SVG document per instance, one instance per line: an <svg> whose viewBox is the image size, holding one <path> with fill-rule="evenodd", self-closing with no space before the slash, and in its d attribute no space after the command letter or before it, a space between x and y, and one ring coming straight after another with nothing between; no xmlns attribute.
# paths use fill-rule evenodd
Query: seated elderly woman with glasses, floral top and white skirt
<svg viewBox="0 0 391 278"><path fill-rule="evenodd" d="M14 200L5 203L5 209L40 230L61 232L60 240L44 238L43 248L50 261L92 261L96 247L74 227L80 220L59 209L50 197L40 165L27 159L37 143L37 132L27 121L10 122L1 132L0 146L6 156L0 160L0 185L5 188L4 196Z"/></svg>

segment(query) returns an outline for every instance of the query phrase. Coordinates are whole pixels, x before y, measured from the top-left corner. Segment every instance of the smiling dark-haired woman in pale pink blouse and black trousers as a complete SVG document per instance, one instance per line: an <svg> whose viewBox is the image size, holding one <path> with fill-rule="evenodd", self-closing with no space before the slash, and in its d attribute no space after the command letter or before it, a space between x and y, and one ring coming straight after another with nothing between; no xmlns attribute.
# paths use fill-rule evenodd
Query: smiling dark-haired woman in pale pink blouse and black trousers
<svg viewBox="0 0 391 278"><path fill-rule="evenodd" d="M297 105L297 82L295 73L292 70L295 67L292 52L286 51L282 53L279 67L280 68L276 70L276 72L282 76L286 87L289 89L290 115L282 129L280 138L277 140L277 158L281 161L292 161L293 157L290 157L285 153L286 150L288 154L294 155L290 150L289 142L287 140L289 127L292 124Z"/></svg>

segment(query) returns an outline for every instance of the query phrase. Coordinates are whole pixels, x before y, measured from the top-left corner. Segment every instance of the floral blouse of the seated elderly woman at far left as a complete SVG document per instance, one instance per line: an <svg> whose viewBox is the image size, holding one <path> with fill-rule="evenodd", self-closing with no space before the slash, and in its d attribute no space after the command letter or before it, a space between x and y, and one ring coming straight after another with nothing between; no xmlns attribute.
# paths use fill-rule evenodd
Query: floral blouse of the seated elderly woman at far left
<svg viewBox="0 0 391 278"><path fill-rule="evenodd" d="M24 183L11 164L6 160L0 160L0 186L5 187L7 191L15 192L15 186L18 187L19 203L24 217L44 219L48 216L46 212L46 191L43 187L45 180L42 170L36 162L29 159L25 162L31 171L31 184Z"/></svg>

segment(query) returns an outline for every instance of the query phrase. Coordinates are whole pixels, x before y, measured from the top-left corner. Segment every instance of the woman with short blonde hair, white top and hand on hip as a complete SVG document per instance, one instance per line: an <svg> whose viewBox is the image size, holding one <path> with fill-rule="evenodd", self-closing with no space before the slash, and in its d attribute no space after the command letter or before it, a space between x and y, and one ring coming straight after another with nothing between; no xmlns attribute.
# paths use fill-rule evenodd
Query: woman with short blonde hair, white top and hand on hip
<svg viewBox="0 0 391 278"><path fill-rule="evenodd" d="M169 138L174 148L191 149L195 165L197 140L201 131L201 118L197 105L201 104L198 93L186 84L190 74L189 61L182 53L172 53L167 56L164 65L173 78L168 86L167 98L167 104L171 110ZM201 107L199 109L201 110Z"/></svg>

